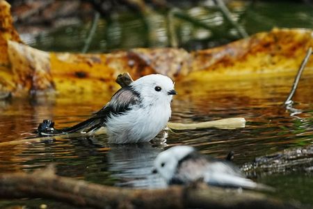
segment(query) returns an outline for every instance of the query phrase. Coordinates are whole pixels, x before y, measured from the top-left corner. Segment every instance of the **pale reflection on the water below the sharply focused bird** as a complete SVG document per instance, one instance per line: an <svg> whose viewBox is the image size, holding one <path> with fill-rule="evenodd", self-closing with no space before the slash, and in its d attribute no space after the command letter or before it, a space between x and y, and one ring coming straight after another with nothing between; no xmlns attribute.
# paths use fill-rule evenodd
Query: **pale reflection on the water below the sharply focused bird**
<svg viewBox="0 0 313 209"><path fill-rule="evenodd" d="M161 132L152 143L110 144L107 153L109 171L120 181L120 187L162 188L166 182L159 175L152 173L155 157L166 146L167 132Z"/></svg>

